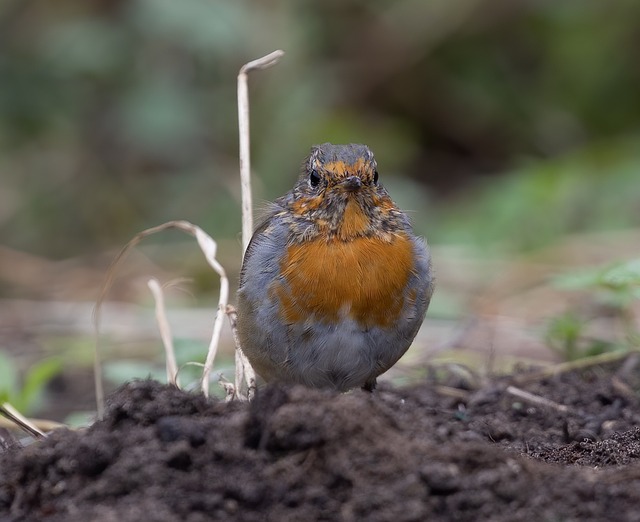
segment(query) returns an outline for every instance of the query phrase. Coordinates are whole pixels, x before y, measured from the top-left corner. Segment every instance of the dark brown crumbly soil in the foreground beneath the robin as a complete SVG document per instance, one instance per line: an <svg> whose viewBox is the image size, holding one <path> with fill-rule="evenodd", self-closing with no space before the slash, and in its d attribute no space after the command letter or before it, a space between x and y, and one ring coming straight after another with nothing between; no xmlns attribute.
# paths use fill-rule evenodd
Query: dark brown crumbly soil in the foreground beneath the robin
<svg viewBox="0 0 640 522"><path fill-rule="evenodd" d="M133 382L87 431L4 451L0 521L640 520L639 383L636 356L250 405Z"/></svg>

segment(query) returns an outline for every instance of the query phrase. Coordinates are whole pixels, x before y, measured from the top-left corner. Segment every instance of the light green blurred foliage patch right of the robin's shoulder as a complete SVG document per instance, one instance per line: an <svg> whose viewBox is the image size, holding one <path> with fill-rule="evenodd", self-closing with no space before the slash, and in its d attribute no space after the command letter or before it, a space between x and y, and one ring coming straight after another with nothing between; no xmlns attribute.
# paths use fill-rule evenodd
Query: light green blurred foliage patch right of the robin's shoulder
<svg viewBox="0 0 640 522"><path fill-rule="evenodd" d="M455 212L434 212L430 236L532 249L571 233L637 225L639 175L640 139L592 144L523 165L498 181L477 182L476 190L456 198Z"/></svg>

